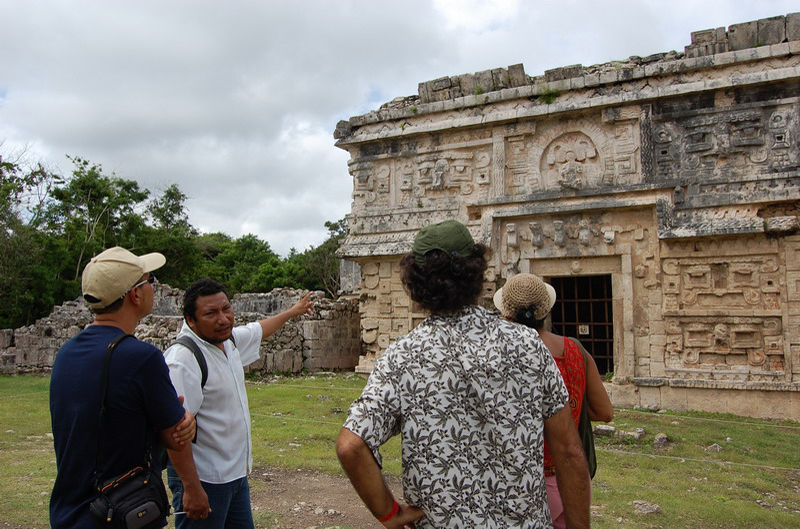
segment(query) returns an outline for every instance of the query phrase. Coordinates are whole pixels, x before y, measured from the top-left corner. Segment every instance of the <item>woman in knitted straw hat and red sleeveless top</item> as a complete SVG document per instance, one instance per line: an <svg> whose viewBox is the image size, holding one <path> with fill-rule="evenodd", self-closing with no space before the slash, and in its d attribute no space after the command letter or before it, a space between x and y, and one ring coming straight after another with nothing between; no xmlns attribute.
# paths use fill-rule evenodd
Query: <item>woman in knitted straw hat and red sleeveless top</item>
<svg viewBox="0 0 800 529"><path fill-rule="evenodd" d="M515 275L494 295L494 304L503 317L536 329L553 355L569 391L575 426L578 426L584 403L590 420L609 422L614 416L614 408L594 359L578 340L554 334L545 324L549 322L548 316L555 302L555 289L533 274ZM588 427L591 428L591 424ZM544 465L547 503L553 526L563 528L567 526L566 517L558 489L556 465L547 443L544 446Z"/></svg>

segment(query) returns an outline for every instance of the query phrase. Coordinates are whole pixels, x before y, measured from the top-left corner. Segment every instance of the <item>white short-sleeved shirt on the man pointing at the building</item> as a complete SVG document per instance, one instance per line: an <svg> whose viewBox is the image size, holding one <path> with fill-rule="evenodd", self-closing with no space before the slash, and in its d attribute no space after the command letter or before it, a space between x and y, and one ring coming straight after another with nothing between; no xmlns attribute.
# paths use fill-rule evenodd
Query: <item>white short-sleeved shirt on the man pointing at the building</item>
<svg viewBox="0 0 800 529"><path fill-rule="evenodd" d="M192 455L197 475L206 483L230 483L253 468L250 409L244 384L244 366L259 358L262 330L258 322L233 329L225 353L197 336L184 324L178 336L192 338L206 358L208 379L201 389L200 365L183 345L165 352L170 378L184 405L197 418L197 442Z"/></svg>

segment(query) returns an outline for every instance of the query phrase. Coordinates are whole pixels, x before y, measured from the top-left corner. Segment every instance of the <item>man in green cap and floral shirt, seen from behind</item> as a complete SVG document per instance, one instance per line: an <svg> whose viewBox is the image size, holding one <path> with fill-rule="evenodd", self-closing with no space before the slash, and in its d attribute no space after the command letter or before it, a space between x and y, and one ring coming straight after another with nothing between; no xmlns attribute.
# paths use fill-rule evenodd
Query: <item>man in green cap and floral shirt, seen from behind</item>
<svg viewBox="0 0 800 529"><path fill-rule="evenodd" d="M589 472L567 389L536 331L476 305L486 251L454 220L420 230L401 275L431 315L378 359L339 434L339 460L385 527L550 527L546 438L567 525L588 527ZM398 433L408 504L380 469L379 448Z"/></svg>

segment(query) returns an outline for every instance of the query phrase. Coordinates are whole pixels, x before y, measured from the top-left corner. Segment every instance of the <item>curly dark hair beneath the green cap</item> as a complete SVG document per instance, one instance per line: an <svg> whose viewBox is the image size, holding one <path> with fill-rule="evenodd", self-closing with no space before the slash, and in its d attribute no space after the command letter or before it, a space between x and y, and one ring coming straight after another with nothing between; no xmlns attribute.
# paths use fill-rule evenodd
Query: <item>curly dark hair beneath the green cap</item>
<svg viewBox="0 0 800 529"><path fill-rule="evenodd" d="M473 305L483 291L487 251L483 244L476 244L469 257L432 250L425 254L423 265L413 253L406 254L400 261L403 286L411 299L433 314Z"/></svg>

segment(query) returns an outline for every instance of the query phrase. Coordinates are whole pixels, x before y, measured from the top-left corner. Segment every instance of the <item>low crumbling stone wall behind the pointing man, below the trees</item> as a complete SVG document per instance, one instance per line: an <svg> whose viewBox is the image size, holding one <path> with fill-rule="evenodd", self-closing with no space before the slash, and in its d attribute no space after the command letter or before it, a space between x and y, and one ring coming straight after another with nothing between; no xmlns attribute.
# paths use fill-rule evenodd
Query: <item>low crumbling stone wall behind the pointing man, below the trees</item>
<svg viewBox="0 0 800 529"><path fill-rule="evenodd" d="M153 314L136 328L136 336L162 351L174 341L183 322L183 291L155 285ZM237 324L278 314L294 305L304 292L275 289L267 294L237 294L231 300ZM47 370L61 346L92 323L82 301L70 301L34 325L0 331L2 373ZM294 318L261 344L261 358L246 371L299 373L353 369L361 354L358 302L314 298L314 314Z"/></svg>

